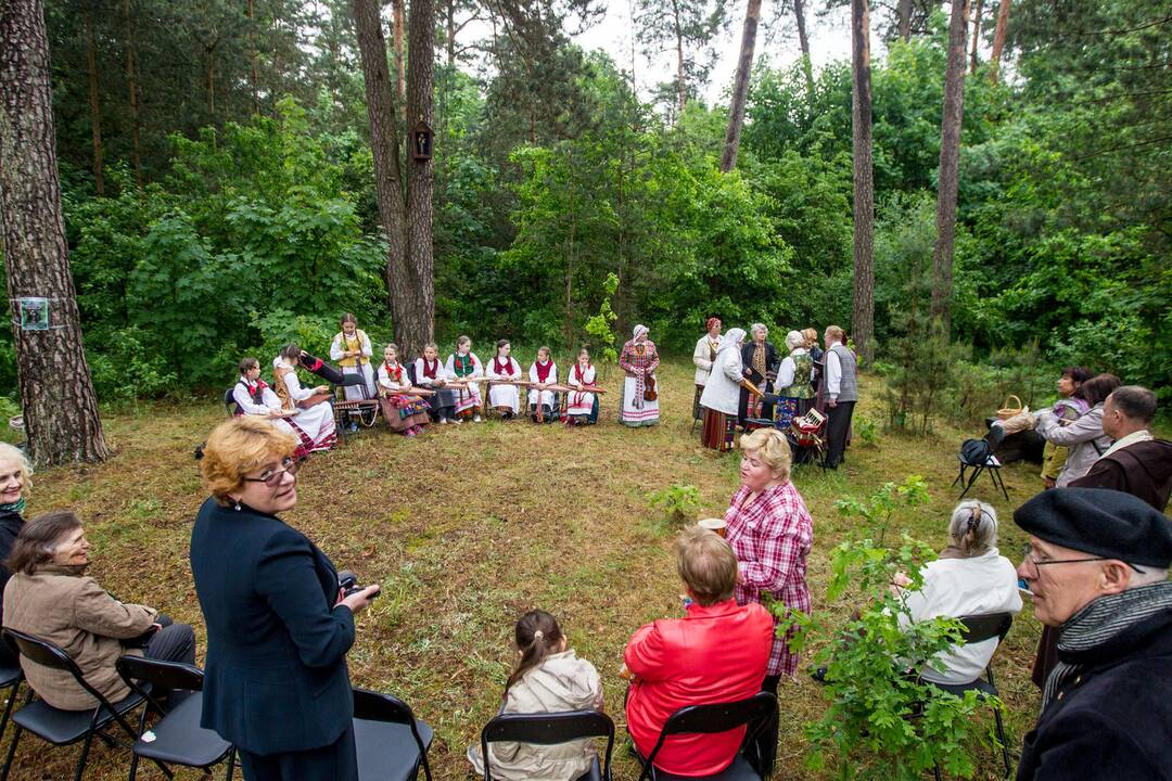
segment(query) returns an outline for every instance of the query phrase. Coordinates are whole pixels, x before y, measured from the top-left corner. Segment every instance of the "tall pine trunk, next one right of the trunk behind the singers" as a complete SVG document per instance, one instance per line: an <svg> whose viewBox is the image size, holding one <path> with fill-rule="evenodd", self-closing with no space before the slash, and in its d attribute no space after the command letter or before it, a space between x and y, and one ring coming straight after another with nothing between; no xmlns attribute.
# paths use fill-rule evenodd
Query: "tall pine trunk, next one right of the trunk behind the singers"
<svg viewBox="0 0 1172 781"><path fill-rule="evenodd" d="M940 189L936 194L936 248L933 258L932 316L949 333L952 317L953 245L956 238L956 191L960 170L960 130L965 112L965 4L953 0L948 21L948 67L945 71L945 110L940 125Z"/></svg>

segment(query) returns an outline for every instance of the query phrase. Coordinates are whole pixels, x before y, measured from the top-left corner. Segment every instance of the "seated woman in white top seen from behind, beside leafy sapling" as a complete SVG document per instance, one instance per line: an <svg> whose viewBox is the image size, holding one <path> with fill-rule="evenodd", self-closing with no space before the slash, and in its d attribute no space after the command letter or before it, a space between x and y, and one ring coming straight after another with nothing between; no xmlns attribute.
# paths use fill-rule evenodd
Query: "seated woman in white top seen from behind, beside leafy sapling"
<svg viewBox="0 0 1172 781"><path fill-rule="evenodd" d="M993 506L976 499L956 505L948 523L948 539L940 557L924 566L924 588L906 595L912 621L990 612L1016 615L1022 609L1017 573L997 553L997 513ZM899 580L900 585L906 584ZM955 646L925 664L920 674L938 684L970 684L984 672L999 642L993 637ZM942 672L936 669L941 663Z"/></svg>

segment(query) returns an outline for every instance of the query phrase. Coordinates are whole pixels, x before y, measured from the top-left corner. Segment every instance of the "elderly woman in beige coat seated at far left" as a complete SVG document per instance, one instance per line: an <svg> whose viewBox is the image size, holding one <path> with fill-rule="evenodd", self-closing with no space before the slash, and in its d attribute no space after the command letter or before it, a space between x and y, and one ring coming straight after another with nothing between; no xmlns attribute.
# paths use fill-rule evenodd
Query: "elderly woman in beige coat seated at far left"
<svg viewBox="0 0 1172 781"><path fill-rule="evenodd" d="M154 608L118 602L93 577L89 541L77 516L47 513L25 523L8 567L4 625L53 643L81 669L86 683L111 703L130 690L114 667L123 653L168 662L196 662L191 626L171 623ZM97 706L73 676L25 657L29 685L53 707L86 711Z"/></svg>

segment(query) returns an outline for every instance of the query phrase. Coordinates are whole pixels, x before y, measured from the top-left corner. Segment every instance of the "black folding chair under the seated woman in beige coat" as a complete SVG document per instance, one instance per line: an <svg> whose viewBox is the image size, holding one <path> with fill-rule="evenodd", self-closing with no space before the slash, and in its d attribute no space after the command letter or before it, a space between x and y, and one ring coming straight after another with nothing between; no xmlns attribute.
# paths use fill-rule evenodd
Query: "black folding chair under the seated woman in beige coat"
<svg viewBox="0 0 1172 781"><path fill-rule="evenodd" d="M81 756L77 758L77 768L74 772L74 780L81 781L86 772L86 760L89 758L89 747L97 735L108 745L118 745L123 748L131 748L131 745L123 742L105 733L105 728L111 722L116 722L130 740L138 735L125 720L125 714L143 704L143 696L136 691L118 700L110 703L101 692L87 683L81 669L53 643L42 640L39 637L19 632L14 629L5 629L5 637L16 648L21 656L41 666L52 670L62 670L73 676L74 680L84 688L90 697L97 700L97 706L93 711L62 711L55 708L43 699L34 700L35 692L29 687L28 698L25 705L13 714L13 724L16 731L13 733L12 742L8 745L8 758L5 760L4 769L0 770L0 781L7 781L8 772L12 769L12 760L16 755L16 744L20 741L20 733L25 729L32 732L38 738L53 744L54 746L69 746L79 740L83 740ZM156 762L166 777L172 777L170 768L162 762Z"/></svg>

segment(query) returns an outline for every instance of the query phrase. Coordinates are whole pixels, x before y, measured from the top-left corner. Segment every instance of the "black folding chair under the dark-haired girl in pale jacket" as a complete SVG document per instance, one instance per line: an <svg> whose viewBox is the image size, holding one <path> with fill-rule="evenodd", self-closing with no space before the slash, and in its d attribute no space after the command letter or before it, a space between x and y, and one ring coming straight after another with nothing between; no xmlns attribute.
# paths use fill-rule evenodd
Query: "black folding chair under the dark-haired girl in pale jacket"
<svg viewBox="0 0 1172 781"><path fill-rule="evenodd" d="M484 781L492 781L489 744L511 740L519 744L553 746L582 738L606 738L606 754L599 767L598 754L578 781L611 781L611 754L614 752L614 721L601 711L565 713L503 713L481 729L481 756Z"/></svg>

